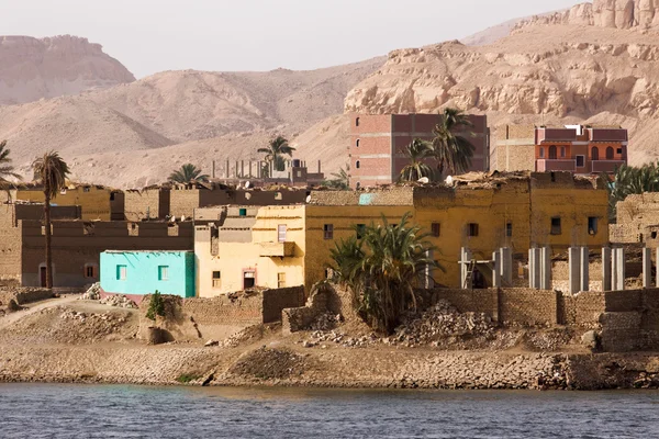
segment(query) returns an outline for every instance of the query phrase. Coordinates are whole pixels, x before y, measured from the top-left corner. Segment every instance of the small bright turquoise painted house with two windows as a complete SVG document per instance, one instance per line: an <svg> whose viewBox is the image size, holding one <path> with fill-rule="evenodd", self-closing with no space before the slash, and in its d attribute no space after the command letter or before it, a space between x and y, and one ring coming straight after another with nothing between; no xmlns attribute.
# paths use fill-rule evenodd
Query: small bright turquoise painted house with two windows
<svg viewBox="0 0 659 439"><path fill-rule="evenodd" d="M101 288L107 293L194 297L194 252L109 250L101 254Z"/></svg>

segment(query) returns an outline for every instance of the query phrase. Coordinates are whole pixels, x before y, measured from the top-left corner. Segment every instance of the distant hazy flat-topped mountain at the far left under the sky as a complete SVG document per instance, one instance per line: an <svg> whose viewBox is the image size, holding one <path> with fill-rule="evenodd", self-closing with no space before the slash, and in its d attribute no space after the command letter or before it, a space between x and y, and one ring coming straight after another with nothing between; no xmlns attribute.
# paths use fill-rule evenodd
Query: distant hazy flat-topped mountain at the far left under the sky
<svg viewBox="0 0 659 439"><path fill-rule="evenodd" d="M76 36L0 36L0 104L78 94L134 81L99 44Z"/></svg>

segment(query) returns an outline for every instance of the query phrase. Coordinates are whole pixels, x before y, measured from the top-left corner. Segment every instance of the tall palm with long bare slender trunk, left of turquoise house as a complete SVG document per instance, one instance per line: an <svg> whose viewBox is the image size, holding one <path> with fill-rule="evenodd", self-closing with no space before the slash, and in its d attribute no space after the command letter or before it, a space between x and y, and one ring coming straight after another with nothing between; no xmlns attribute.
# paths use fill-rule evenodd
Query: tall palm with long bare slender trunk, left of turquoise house
<svg viewBox="0 0 659 439"><path fill-rule="evenodd" d="M44 187L44 219L46 228L46 288L53 288L53 251L51 248L51 200L66 188L69 168L56 151L48 151L32 162L34 175Z"/></svg>

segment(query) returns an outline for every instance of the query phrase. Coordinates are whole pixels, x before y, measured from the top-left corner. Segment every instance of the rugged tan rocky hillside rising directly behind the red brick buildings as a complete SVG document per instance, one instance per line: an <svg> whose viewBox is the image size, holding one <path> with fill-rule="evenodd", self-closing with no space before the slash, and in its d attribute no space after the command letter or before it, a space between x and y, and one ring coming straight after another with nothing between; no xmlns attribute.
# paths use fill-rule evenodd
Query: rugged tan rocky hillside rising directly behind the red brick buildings
<svg viewBox="0 0 659 439"><path fill-rule="evenodd" d="M447 42L394 50L346 98L346 112L487 113L490 124L597 121L632 132L633 162L657 157L656 30L525 25L480 47ZM495 139L493 139L495 142Z"/></svg>

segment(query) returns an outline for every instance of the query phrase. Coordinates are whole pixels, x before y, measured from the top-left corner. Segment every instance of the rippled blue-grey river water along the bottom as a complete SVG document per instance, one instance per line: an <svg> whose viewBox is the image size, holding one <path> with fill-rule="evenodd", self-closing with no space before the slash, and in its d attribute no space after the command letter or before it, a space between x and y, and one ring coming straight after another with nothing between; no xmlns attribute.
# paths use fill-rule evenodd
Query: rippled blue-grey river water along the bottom
<svg viewBox="0 0 659 439"><path fill-rule="evenodd" d="M659 438L659 392L0 384L0 438Z"/></svg>

